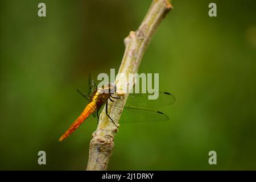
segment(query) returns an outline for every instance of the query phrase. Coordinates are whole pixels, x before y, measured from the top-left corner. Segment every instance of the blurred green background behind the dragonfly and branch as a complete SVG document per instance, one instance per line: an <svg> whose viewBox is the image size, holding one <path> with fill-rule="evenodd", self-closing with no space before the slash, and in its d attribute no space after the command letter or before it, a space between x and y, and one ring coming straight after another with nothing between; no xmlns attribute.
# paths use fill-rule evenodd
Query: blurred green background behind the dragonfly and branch
<svg viewBox="0 0 256 182"><path fill-rule="evenodd" d="M38 17L39 2L46 18ZM216 18L208 16L210 2ZM85 107L76 88L88 89L88 73L119 68L123 39L150 4L0 1L0 169L86 168L96 119L58 142ZM160 90L175 95L160 109L171 120L121 125L108 169L256 169L256 2L172 5L139 69L159 73Z"/></svg>

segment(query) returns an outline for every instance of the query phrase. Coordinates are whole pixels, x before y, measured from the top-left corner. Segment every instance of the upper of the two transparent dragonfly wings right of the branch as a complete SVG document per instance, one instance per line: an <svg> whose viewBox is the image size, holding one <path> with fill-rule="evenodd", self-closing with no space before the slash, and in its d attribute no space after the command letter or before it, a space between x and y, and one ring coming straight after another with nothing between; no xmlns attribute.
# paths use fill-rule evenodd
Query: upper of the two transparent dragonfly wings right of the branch
<svg viewBox="0 0 256 182"><path fill-rule="evenodd" d="M158 92L158 98L156 100L149 100L148 96L152 96L150 93L130 93L118 94L117 97L123 99L127 98L125 106L143 107L146 109L154 109L162 106L171 105L175 102L175 97L168 92Z"/></svg>

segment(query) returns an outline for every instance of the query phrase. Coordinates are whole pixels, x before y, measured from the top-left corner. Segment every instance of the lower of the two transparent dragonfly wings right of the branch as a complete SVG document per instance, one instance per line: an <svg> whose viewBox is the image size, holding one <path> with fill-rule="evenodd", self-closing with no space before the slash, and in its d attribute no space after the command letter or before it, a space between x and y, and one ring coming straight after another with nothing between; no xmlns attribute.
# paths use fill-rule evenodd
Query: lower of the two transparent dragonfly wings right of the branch
<svg viewBox="0 0 256 182"><path fill-rule="evenodd" d="M139 107L123 107L122 115L120 118L121 123L133 122L157 122L167 121L169 117L160 111L149 110Z"/></svg>

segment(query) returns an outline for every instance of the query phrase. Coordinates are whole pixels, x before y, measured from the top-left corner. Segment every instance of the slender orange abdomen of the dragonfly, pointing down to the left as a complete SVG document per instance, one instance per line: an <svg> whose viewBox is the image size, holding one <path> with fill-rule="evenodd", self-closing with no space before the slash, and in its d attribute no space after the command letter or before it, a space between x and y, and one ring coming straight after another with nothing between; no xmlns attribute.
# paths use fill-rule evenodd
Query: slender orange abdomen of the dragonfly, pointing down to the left
<svg viewBox="0 0 256 182"><path fill-rule="evenodd" d="M96 110L96 102L90 102L82 111L82 114L76 119L75 122L69 127L69 129L60 137L59 141L61 142L65 138L67 138L69 135L71 135L80 125L82 122L85 121L86 118L89 117L90 114L92 114Z"/></svg>

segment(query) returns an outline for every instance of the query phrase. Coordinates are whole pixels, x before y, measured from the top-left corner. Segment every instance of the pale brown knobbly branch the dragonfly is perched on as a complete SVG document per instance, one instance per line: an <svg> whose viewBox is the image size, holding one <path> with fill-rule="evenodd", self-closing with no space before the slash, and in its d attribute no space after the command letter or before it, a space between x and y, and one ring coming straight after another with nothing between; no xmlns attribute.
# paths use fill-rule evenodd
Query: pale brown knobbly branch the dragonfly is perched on
<svg viewBox="0 0 256 182"><path fill-rule="evenodd" d="M129 73L137 73L142 57L156 28L159 26L162 19L172 9L172 5L168 0L153 0L141 26L137 31L131 31L129 36L125 38L125 53L123 55L122 63L118 73L123 73L128 78ZM131 83L126 82L119 74L115 80L118 90L122 90L122 85L129 86ZM125 82L124 82L125 81ZM108 111L113 121L118 124L119 118L122 114L122 106L125 105L126 100L115 100L109 102ZM112 110L112 106L119 107L120 110ZM90 141L89 160L87 170L106 170L110 156L114 148L114 137L117 133L117 127L110 122L106 116L105 109L100 115L97 130L92 134Z"/></svg>

